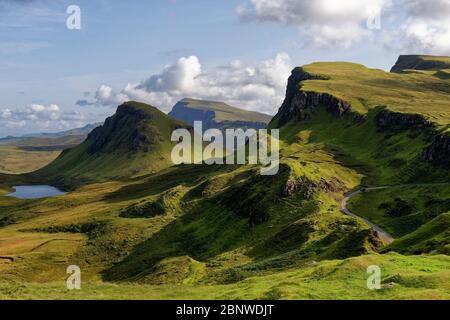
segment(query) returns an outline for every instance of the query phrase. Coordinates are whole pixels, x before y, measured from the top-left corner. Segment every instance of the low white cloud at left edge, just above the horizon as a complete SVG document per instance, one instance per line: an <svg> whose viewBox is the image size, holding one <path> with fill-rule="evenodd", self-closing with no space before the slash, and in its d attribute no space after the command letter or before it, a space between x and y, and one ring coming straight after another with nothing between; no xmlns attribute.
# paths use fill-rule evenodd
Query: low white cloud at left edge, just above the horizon
<svg viewBox="0 0 450 320"><path fill-rule="evenodd" d="M33 128L35 130L68 129L85 121L79 112L63 112L56 104L30 104L25 108L0 109L0 125L6 128Z"/></svg>

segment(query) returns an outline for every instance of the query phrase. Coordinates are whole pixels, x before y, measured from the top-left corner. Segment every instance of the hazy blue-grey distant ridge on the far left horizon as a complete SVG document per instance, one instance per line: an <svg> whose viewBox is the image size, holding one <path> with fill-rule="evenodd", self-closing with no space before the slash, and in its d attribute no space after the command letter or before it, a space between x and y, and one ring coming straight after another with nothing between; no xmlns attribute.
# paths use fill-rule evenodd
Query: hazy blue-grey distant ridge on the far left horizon
<svg viewBox="0 0 450 320"><path fill-rule="evenodd" d="M55 133L27 134L20 137L8 136L0 139L0 145L14 145L29 150L64 150L82 143L87 135L99 125L101 123L88 124L82 128Z"/></svg>

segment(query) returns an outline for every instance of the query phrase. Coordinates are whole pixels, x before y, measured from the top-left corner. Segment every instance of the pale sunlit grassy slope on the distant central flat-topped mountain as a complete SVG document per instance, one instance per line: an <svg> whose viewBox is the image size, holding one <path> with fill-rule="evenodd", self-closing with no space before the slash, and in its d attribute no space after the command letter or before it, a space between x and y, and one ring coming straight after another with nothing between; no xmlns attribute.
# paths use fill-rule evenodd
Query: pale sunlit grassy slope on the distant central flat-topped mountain
<svg viewBox="0 0 450 320"><path fill-rule="evenodd" d="M183 99L183 102L188 103L189 107L194 109L214 111L216 113L215 120L217 122L248 121L269 123L272 119L272 117L267 114L238 109L223 102L196 99Z"/></svg>

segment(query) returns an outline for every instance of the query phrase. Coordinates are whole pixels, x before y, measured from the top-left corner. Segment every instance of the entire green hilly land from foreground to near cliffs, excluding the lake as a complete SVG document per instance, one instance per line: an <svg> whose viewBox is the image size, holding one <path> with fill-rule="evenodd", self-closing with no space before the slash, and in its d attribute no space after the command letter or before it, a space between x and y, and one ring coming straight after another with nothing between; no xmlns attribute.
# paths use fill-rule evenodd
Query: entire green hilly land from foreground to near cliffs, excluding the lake
<svg viewBox="0 0 450 320"><path fill-rule="evenodd" d="M170 135L192 127L138 102L45 167L0 174L0 298L449 299L450 83L400 62L294 69L268 124L274 176L173 165ZM1 196L37 183L69 192Z"/></svg>

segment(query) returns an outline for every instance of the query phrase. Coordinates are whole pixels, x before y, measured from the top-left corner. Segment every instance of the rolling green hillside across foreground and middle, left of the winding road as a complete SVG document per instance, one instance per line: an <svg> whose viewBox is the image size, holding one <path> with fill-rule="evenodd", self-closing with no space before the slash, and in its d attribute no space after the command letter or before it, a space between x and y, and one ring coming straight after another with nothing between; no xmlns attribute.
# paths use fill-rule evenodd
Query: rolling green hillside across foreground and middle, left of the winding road
<svg viewBox="0 0 450 320"><path fill-rule="evenodd" d="M391 253L345 259L375 248L367 226L339 212L343 192L365 183L448 180L448 172L429 175L430 168L417 163L427 143L423 137L377 132L371 119L368 112L365 123L336 120L319 108L311 120L289 123L281 132L283 170L273 178L258 177L249 167L178 166L134 181L85 186L61 198L0 197L0 255L16 259L0 262L0 278L64 283L65 267L75 263L93 283L79 297L99 290L110 297L143 297L140 290L150 288L168 298L189 293L199 298L447 298L448 257ZM298 188L281 196L288 180ZM164 210L124 215L155 206ZM250 227L252 219L264 222ZM386 282L397 285L368 291L368 264L381 264ZM56 287L27 285L8 293L16 287L7 284L2 292L8 297L32 296L30 289L44 297L70 295Z"/></svg>

